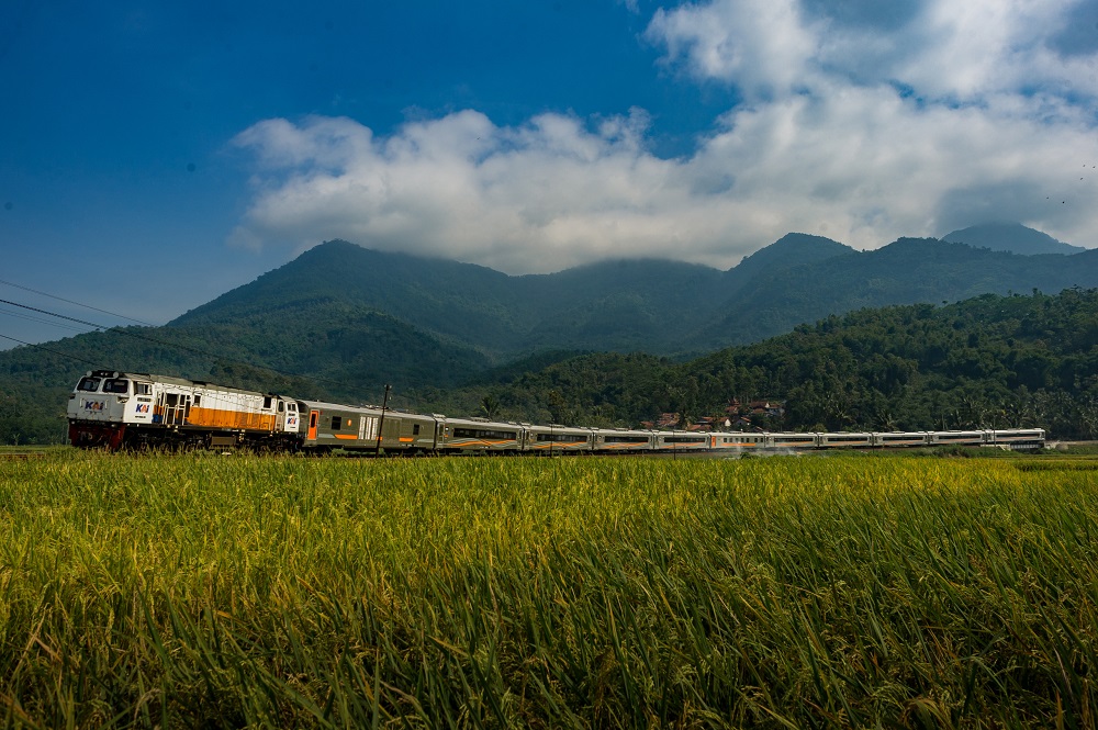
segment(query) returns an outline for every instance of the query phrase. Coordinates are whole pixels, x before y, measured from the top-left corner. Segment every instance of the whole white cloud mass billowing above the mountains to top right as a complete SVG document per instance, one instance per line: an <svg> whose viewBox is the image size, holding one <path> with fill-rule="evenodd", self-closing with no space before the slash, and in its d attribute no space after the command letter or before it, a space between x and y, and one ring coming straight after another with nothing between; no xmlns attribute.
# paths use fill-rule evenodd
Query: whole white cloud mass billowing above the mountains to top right
<svg viewBox="0 0 1098 730"><path fill-rule="evenodd" d="M255 196L231 240L339 237L508 272L639 256L728 267L789 231L871 248L988 220L1098 245L1098 55L1053 41L1077 9L844 7L658 11L646 38L665 72L742 97L682 158L650 151L642 110L517 126L466 110L384 136L343 117L260 122L236 138Z"/></svg>

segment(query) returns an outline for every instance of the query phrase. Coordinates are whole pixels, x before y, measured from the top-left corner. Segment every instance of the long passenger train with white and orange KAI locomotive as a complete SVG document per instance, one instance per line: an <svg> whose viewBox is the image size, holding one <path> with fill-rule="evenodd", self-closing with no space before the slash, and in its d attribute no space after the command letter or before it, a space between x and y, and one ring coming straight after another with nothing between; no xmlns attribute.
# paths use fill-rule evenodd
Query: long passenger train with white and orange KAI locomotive
<svg viewBox="0 0 1098 730"><path fill-rule="evenodd" d="M589 428L451 418L259 393L148 373L90 370L67 408L82 448L250 449L294 453L750 453L945 445L1039 449L1041 428L743 433Z"/></svg>

